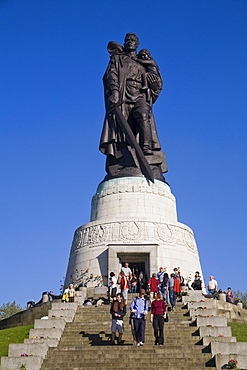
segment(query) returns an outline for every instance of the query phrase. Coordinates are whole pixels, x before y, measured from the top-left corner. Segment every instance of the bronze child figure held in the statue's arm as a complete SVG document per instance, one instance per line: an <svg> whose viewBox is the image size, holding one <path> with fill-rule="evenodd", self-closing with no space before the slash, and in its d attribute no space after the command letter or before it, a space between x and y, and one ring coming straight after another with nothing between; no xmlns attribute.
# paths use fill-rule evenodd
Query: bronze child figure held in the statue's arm
<svg viewBox="0 0 247 370"><path fill-rule="evenodd" d="M141 49L137 55L137 61L146 69L146 73L143 74L143 90L148 90L148 81L153 82L157 80L159 76L159 68L156 62L151 57L150 51L147 49ZM148 91L147 91L148 94ZM150 94L147 95L148 101L150 101Z"/></svg>

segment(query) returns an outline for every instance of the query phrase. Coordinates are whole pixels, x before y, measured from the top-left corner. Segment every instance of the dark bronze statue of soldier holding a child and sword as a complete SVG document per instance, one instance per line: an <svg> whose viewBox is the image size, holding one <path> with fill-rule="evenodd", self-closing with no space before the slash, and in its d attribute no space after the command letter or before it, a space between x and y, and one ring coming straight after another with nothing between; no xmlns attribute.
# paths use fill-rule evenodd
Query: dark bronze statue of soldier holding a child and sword
<svg viewBox="0 0 247 370"><path fill-rule="evenodd" d="M149 50L136 52L138 37L128 33L124 46L108 44L110 62L103 77L106 116L100 151L107 155L106 179L142 176L164 181L163 152L152 113L162 78Z"/></svg>

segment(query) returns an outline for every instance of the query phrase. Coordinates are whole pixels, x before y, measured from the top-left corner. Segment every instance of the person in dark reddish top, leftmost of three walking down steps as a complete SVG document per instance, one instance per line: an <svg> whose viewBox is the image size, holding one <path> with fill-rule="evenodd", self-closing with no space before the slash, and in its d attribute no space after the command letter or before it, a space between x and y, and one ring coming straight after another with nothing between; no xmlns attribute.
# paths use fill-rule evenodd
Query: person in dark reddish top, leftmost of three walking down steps
<svg viewBox="0 0 247 370"><path fill-rule="evenodd" d="M123 297L121 293L118 293L116 300L112 302L110 313L112 315L112 325L111 325L112 344L115 344L116 331L118 331L117 342L118 344L122 344L122 337L124 332L123 317L126 315L126 305L123 302Z"/></svg>

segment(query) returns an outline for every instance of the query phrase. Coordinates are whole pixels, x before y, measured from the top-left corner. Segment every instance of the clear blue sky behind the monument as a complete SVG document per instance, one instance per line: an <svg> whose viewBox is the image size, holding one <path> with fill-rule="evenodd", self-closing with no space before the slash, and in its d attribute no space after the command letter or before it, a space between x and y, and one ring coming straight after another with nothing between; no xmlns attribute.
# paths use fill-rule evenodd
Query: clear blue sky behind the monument
<svg viewBox="0 0 247 370"><path fill-rule="evenodd" d="M247 1L0 1L0 304L59 293L104 178L108 41L159 64L154 114L203 273L247 291Z"/></svg>

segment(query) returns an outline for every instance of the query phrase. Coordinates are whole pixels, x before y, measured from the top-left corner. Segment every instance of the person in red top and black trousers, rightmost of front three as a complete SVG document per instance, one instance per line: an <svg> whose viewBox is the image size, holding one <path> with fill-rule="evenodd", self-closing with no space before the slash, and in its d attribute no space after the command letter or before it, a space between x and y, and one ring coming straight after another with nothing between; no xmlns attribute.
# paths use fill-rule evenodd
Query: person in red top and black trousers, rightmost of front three
<svg viewBox="0 0 247 370"><path fill-rule="evenodd" d="M162 299L162 294L156 294L155 301L151 305L150 322L153 324L155 345L164 345L164 320L166 318L166 305Z"/></svg>

